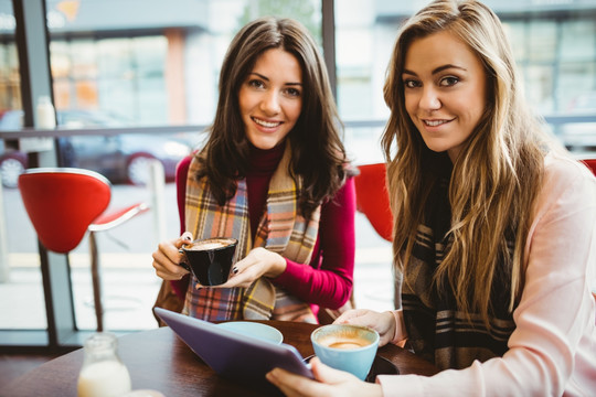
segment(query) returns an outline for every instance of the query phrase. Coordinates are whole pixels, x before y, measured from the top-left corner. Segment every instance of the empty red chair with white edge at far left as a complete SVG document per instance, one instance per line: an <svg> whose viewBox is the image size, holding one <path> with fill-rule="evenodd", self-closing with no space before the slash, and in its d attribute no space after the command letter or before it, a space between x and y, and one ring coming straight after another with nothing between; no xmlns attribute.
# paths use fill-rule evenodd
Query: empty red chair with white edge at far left
<svg viewBox="0 0 596 397"><path fill-rule="evenodd" d="M99 258L95 234L109 230L149 210L146 203L106 211L111 184L103 175L68 168L29 169L19 176L19 190L41 244L51 251L68 254L87 230L97 331L104 330Z"/></svg>

